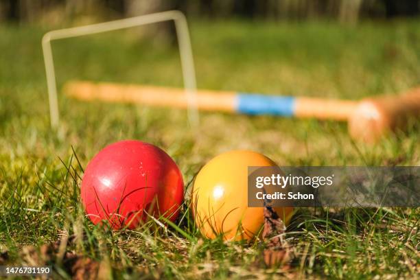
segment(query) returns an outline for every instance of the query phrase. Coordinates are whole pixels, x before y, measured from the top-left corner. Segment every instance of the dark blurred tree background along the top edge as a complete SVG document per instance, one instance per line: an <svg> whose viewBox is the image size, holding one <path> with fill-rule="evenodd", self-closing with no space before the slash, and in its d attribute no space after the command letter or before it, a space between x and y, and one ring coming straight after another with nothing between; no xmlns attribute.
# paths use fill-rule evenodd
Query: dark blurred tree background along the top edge
<svg viewBox="0 0 420 280"><path fill-rule="evenodd" d="M90 22L178 9L188 16L354 24L360 19L417 16L420 0L1 0L0 21Z"/></svg>

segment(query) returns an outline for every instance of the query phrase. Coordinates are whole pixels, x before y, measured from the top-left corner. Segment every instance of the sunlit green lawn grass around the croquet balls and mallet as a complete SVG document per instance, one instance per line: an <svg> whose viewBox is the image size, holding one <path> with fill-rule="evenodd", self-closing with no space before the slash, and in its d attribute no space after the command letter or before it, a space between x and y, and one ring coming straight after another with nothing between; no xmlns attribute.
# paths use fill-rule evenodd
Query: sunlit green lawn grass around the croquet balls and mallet
<svg viewBox="0 0 420 280"><path fill-rule="evenodd" d="M15 264L24 246L76 234L86 238L70 249L100 261L101 273L115 279L419 277L418 208L299 209L287 235L298 252L289 272L266 268L258 242L203 239L188 199L184 218L166 227L150 222L112 232L93 226L80 206L82 167L120 139L161 146L189 189L202 165L233 149L262 152L279 165L420 165L419 131L369 146L353 142L345 124L222 113L202 113L200 128L192 130L181 110L61 96L62 123L54 131L40 49L45 31L0 26L0 251L8 250ZM205 89L358 99L420 83L420 21L356 27L193 21L191 38L198 85ZM54 54L60 85L71 78L182 85L176 48L138 32L62 40Z"/></svg>

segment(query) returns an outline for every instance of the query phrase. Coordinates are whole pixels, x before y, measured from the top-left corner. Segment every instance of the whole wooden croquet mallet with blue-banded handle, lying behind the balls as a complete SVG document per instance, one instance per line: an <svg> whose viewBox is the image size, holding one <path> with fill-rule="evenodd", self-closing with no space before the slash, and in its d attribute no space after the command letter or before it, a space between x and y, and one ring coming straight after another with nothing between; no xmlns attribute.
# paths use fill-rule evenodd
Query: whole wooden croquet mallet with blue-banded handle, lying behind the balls
<svg viewBox="0 0 420 280"><path fill-rule="evenodd" d="M184 89L169 87L71 81L65 84L64 91L68 96L85 101L189 106ZM353 139L372 143L388 132L403 130L410 119L420 118L420 88L361 101L198 90L195 104L198 109L209 111L349 121Z"/></svg>

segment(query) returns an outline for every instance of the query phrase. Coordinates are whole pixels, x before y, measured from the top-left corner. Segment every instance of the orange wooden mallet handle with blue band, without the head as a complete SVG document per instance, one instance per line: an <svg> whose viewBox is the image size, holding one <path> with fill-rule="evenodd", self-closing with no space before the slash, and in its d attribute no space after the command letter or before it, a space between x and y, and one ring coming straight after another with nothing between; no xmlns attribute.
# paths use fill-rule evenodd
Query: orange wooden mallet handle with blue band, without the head
<svg viewBox="0 0 420 280"><path fill-rule="evenodd" d="M127 102L150 106L187 108L183 89L113 83L68 82L65 93L79 100ZM198 90L196 105L200 110L219 110L250 115L281 115L336 119L345 121L358 102L326 100L312 97L291 97L236 93L235 91Z"/></svg>

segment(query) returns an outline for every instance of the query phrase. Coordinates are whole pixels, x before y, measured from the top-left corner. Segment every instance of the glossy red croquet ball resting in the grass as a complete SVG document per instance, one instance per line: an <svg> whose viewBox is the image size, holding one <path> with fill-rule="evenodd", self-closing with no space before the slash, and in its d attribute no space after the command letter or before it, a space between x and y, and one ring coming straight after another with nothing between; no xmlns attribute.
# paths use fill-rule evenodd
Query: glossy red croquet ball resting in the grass
<svg viewBox="0 0 420 280"><path fill-rule="evenodd" d="M134 229L150 215L174 221L184 184L176 163L163 150L141 141L119 141L98 152L82 180L82 202L93 224Z"/></svg>

